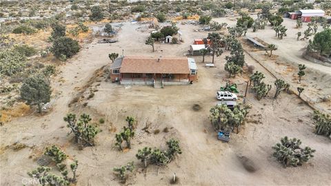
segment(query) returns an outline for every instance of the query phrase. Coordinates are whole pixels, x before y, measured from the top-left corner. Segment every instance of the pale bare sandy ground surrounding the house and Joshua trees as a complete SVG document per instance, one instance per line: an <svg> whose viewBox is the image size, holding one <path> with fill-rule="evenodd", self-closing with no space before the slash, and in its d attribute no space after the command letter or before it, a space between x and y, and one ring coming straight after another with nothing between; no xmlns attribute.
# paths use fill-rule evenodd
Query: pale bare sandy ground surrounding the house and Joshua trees
<svg viewBox="0 0 331 186"><path fill-rule="evenodd" d="M217 21L231 24L230 19ZM288 20L285 24L295 25L294 21ZM16 118L0 128L0 185L22 185L22 179L28 178L26 172L37 167L35 159L43 153L45 147L53 144L62 147L69 159L79 160L77 185L120 185L112 167L129 161L135 162L137 170L128 180L128 185L169 185L174 172L179 177L180 185L331 185L330 139L313 133L312 109L294 94L282 93L280 99L274 101L272 90L268 98L257 101L249 91L247 101L252 105L252 110L244 127L239 134L232 135L230 143L217 141L208 116L210 107L217 103L215 92L225 84L224 79L228 77L223 65L229 52L216 58L217 68L204 68L201 57L194 56L199 65L199 81L188 86L166 86L163 89L122 86L108 81L106 73L94 76L95 71L100 72L100 68L110 64L110 52L121 54L124 50L125 55L183 56L194 38L208 34L194 32L198 26L178 24L185 42L180 45L157 44L157 51L153 53L150 45L144 44L149 34L145 30L146 26L124 23L117 37L118 43L98 44L94 41L88 45L61 67L61 72L52 82L53 101L50 113ZM328 82L331 68L301 59L297 50L303 48L305 41L298 41L302 45L297 45L297 41L294 41L297 30L290 29L288 37L278 41L270 37L274 35L271 28L267 29L257 33L250 31L248 35L279 45L279 50L274 54L286 65L307 64L311 72L305 77L306 86L317 85L316 81L313 85L308 83L317 76L317 88L325 90L323 94L330 93ZM294 52L290 52L288 48L293 48ZM264 58L261 52L252 52L252 56ZM210 60L208 56L207 61ZM274 77L247 53L245 61L254 65L255 70L263 72L267 83L273 84ZM274 68L276 72L279 69L281 68ZM295 70L293 73L296 74ZM279 72L284 78L291 80L293 73ZM321 79L323 74L324 78ZM90 79L94 83L86 88ZM247 80L247 74L232 79L239 85L239 96L244 94ZM295 79L291 83L296 83ZM89 100L80 99L68 107L68 103L79 91L83 95L94 92L95 96ZM307 94L314 95L310 92L313 91L307 91ZM88 105L84 107L83 103ZM193 110L194 104L200 105L201 110ZM328 105L321 107L328 110ZM68 128L63 121L63 116L68 112L88 113L94 118L94 122L101 117L105 118L106 122L100 125L103 132L98 134L95 147L86 147L80 151L72 143L72 136L66 135ZM130 151L119 152L114 148L114 134L126 124L126 116L137 118L137 136L132 141ZM142 130L146 125L149 126L150 134ZM162 132L165 127L170 129L169 132ZM153 134L152 131L157 129L161 132ZM271 156L271 147L283 136L300 138L303 146L316 149L314 158L302 167L283 168ZM167 167L150 165L147 170L143 170L143 165L135 158L137 150L145 146L165 147L165 141L170 138L179 138L183 154ZM22 143L28 147L17 152L10 146L13 143ZM245 169L243 157L254 163L255 172Z"/></svg>

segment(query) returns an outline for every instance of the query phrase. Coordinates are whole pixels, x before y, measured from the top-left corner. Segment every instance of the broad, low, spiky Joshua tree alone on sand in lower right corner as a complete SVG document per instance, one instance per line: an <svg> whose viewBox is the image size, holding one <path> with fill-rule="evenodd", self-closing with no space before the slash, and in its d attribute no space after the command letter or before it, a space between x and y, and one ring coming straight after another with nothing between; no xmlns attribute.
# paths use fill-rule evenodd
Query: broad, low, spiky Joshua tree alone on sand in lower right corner
<svg viewBox="0 0 331 186"><path fill-rule="evenodd" d="M277 158L284 167L288 167L289 165L294 167L300 166L309 161L310 158L314 157L312 154L315 152L315 150L310 147L305 147L303 149L300 145L301 140L285 136L284 138L281 138L281 143L277 143L272 147L272 149L274 149L272 156Z"/></svg>

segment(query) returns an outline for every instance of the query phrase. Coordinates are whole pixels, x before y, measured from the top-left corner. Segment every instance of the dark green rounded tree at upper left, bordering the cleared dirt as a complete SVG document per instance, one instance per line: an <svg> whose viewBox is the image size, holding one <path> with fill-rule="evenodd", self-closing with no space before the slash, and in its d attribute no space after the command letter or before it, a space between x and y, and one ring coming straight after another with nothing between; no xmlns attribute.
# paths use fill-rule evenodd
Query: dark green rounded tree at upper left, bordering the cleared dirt
<svg viewBox="0 0 331 186"><path fill-rule="evenodd" d="M58 59L66 60L79 52L80 47L76 40L69 37L60 37L55 39L52 45L52 53Z"/></svg>

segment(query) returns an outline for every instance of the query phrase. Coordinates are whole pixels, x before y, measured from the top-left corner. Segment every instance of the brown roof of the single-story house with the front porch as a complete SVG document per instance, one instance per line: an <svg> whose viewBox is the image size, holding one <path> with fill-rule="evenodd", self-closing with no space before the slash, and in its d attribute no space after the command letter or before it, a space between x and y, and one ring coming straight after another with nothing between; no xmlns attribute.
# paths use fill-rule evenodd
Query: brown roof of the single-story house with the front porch
<svg viewBox="0 0 331 186"><path fill-rule="evenodd" d="M185 57L125 56L121 73L157 73L157 74L190 74L188 59Z"/></svg>

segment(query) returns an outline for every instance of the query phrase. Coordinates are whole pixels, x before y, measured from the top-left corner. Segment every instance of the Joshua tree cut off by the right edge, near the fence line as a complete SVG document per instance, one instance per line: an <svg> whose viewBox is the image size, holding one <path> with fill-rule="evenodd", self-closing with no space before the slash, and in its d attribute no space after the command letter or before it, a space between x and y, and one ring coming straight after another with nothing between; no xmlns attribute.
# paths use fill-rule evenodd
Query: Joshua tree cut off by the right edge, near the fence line
<svg viewBox="0 0 331 186"><path fill-rule="evenodd" d="M331 138L331 116L314 110L315 133Z"/></svg>

